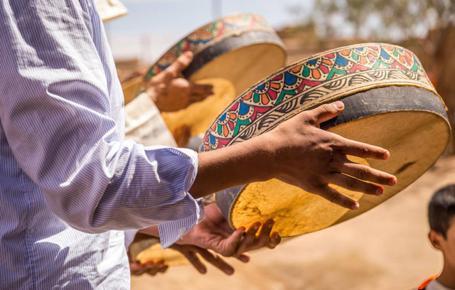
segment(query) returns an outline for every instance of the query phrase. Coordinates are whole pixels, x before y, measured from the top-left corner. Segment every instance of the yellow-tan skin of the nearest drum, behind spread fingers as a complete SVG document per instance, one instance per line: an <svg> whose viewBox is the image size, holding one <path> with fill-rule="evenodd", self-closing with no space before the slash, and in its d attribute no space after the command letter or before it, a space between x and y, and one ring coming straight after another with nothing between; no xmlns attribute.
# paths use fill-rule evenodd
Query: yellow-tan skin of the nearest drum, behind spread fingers
<svg viewBox="0 0 455 290"><path fill-rule="evenodd" d="M390 159L387 161L357 159L355 162L395 174L398 183L395 186L385 186L385 193L380 196L333 186L349 198L357 200L360 204L358 210L342 208L319 195L276 179L251 183L242 189L237 200L232 203L231 224L234 227L248 227L257 220L265 222L273 218L274 230L283 237L336 225L374 208L409 186L432 166L449 140L449 126L445 119L438 114L422 111L377 114L328 131L389 149ZM433 136L438 137L434 139Z"/></svg>

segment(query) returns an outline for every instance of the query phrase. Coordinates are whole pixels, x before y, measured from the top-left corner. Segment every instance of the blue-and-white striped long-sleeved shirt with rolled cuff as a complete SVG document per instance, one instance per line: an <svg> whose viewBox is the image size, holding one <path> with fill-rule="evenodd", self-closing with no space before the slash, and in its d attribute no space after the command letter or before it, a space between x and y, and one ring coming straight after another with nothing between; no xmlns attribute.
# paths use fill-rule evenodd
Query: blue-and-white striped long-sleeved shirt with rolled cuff
<svg viewBox="0 0 455 290"><path fill-rule="evenodd" d="M124 141L92 0L0 1L0 288L129 289L122 230L203 218L189 149Z"/></svg>

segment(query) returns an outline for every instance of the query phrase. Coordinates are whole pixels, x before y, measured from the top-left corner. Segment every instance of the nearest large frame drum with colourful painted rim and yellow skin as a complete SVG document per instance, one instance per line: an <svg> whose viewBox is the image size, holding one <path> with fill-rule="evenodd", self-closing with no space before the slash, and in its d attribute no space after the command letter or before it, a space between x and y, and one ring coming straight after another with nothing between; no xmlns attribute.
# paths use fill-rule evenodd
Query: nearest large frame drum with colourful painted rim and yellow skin
<svg viewBox="0 0 455 290"><path fill-rule="evenodd" d="M213 122L200 151L237 144L336 100L345 109L321 129L389 150L387 161L348 158L394 174L397 185L385 186L380 196L329 185L358 200L359 210L274 179L230 188L216 202L232 227L273 218L274 230L290 237L336 225L409 186L449 143L446 108L417 57L396 45L365 43L306 58L250 87Z"/></svg>

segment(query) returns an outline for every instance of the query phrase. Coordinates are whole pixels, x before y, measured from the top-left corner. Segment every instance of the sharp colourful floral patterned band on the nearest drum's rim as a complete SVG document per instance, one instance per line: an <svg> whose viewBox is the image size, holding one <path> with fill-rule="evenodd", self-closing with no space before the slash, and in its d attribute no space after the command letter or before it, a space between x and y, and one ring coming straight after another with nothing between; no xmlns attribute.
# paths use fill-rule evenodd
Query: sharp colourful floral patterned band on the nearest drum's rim
<svg viewBox="0 0 455 290"><path fill-rule="evenodd" d="M417 57L396 45L366 43L330 50L269 75L245 91L208 129L200 151L250 139L324 102L389 85L437 95Z"/></svg>

